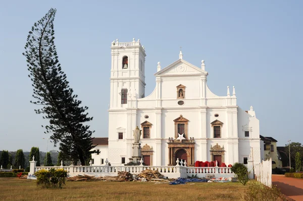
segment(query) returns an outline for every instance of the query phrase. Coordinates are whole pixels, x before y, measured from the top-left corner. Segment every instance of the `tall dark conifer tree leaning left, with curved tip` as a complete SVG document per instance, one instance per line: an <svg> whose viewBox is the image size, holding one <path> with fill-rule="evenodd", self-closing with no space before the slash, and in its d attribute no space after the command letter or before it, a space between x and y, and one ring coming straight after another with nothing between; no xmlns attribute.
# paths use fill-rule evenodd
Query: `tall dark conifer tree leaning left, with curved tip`
<svg viewBox="0 0 303 201"><path fill-rule="evenodd" d="M45 133L52 133L50 137L55 145L60 143L60 151L68 156L68 160L76 163L89 158L92 146L92 131L84 125L92 117L88 117L77 95L69 86L66 74L62 71L55 46L54 18L56 9L51 9L34 24L27 37L25 45L28 62L29 77L33 82L34 104L42 108L35 110L49 120Z"/></svg>

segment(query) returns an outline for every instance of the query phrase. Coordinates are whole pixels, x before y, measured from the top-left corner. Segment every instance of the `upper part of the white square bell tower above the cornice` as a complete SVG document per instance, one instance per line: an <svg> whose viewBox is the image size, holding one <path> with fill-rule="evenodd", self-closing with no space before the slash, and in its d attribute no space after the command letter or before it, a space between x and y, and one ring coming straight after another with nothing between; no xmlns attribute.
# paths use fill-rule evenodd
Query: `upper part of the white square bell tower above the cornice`
<svg viewBox="0 0 303 201"><path fill-rule="evenodd" d="M130 98L145 96L145 48L140 40L111 45L111 98L110 109L126 108Z"/></svg>

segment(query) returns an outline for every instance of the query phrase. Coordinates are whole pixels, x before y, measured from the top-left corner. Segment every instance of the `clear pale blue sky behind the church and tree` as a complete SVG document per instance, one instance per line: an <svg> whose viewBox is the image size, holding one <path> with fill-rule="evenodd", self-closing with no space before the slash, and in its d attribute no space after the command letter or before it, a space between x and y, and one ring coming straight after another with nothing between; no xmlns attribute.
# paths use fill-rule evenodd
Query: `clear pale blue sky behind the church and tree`
<svg viewBox="0 0 303 201"><path fill-rule="evenodd" d="M145 46L146 91L162 68L183 58L205 60L217 95L236 87L238 105L254 106L260 132L284 146L302 141L302 1L1 1L0 150L46 151L47 138L29 103L31 81L22 55L31 26L57 9L55 37L67 79L89 107L94 137L108 136L110 45L140 39ZM48 144L48 150L53 149Z"/></svg>

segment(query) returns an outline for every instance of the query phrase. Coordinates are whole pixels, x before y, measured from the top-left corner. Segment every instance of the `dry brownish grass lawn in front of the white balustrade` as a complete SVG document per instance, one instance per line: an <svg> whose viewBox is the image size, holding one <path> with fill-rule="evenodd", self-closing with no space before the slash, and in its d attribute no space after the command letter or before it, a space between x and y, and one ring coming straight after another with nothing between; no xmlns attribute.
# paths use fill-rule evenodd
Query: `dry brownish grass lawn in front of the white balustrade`
<svg viewBox="0 0 303 201"><path fill-rule="evenodd" d="M240 183L68 181L62 189L37 187L35 180L0 178L0 200L240 200Z"/></svg>

